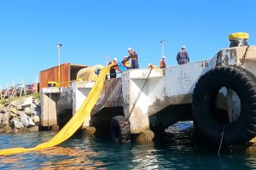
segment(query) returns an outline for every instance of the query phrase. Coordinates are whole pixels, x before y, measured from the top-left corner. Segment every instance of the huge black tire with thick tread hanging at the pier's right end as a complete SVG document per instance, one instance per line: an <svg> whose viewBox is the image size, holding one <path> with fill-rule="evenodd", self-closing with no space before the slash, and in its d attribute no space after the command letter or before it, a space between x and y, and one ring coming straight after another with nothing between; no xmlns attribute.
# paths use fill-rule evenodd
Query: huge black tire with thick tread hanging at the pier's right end
<svg viewBox="0 0 256 170"><path fill-rule="evenodd" d="M249 71L234 66L218 66L203 75L195 85L193 115L195 128L214 143L241 144L256 136L256 78ZM235 122L219 118L216 106L221 88L236 92L241 112Z"/></svg>

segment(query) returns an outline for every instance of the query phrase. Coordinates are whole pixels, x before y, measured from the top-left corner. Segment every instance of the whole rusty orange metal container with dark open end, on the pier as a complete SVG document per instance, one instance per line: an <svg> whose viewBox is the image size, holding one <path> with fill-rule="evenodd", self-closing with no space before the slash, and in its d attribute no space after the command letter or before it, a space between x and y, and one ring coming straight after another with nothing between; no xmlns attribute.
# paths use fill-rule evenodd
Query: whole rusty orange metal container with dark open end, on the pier
<svg viewBox="0 0 256 170"><path fill-rule="evenodd" d="M61 66L61 87L67 87L77 78L78 72L86 68L87 65L74 65L71 63L64 63ZM58 82L58 65L44 71L40 71L39 90L48 87L47 82Z"/></svg>

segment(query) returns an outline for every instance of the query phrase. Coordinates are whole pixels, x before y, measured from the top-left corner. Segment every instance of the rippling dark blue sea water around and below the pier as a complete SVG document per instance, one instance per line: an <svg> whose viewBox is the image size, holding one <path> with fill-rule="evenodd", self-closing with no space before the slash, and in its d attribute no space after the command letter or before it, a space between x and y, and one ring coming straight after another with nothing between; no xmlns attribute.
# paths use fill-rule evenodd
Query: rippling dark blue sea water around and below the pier
<svg viewBox="0 0 256 170"><path fill-rule="evenodd" d="M170 127L149 144L114 144L111 139L83 137L49 150L0 156L0 169L256 169L256 154L220 150L195 138L191 123ZM0 149L33 147L55 133L0 134Z"/></svg>

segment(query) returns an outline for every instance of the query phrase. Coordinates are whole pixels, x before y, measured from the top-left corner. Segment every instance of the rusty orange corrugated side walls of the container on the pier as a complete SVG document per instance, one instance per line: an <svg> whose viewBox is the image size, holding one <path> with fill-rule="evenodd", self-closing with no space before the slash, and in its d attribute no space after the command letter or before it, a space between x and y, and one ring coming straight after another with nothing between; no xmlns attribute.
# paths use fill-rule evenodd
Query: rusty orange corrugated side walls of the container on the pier
<svg viewBox="0 0 256 170"><path fill-rule="evenodd" d="M61 87L67 87L70 81L70 63L61 65ZM47 82L58 82L58 66L40 71L39 89L46 88Z"/></svg>

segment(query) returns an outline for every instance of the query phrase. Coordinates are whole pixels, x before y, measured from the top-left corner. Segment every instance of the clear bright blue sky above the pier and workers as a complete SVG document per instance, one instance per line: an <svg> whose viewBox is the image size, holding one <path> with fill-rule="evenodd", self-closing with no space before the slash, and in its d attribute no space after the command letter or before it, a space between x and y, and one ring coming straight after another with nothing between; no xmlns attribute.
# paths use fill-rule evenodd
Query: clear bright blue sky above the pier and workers
<svg viewBox="0 0 256 170"><path fill-rule="evenodd" d="M256 1L0 0L0 86L34 82L58 63L106 65L137 51L139 65L159 65L161 40L167 65L185 45L190 61L210 59L230 45L232 32L256 44Z"/></svg>

